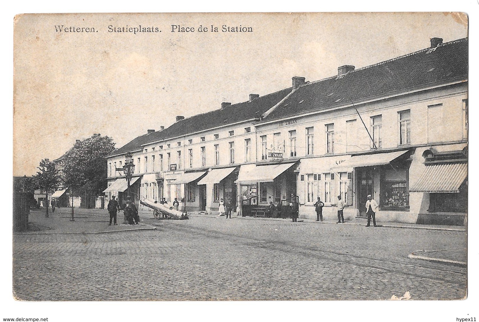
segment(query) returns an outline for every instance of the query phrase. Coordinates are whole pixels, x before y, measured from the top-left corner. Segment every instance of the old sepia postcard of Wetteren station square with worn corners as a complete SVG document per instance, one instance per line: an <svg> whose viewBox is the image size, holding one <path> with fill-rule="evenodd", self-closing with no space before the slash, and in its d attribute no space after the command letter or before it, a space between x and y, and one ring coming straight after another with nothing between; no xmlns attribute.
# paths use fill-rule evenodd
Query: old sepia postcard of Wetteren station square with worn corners
<svg viewBox="0 0 479 322"><path fill-rule="evenodd" d="M467 297L468 16L14 19L13 297Z"/></svg>

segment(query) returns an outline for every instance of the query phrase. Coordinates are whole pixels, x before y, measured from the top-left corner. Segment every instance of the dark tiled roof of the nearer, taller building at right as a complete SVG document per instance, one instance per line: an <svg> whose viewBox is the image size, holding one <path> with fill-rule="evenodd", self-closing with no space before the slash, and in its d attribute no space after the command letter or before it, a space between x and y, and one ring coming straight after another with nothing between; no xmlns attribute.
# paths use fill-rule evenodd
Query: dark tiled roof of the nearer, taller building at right
<svg viewBox="0 0 479 322"><path fill-rule="evenodd" d="M468 39L463 38L300 86L264 121L467 75Z"/></svg>

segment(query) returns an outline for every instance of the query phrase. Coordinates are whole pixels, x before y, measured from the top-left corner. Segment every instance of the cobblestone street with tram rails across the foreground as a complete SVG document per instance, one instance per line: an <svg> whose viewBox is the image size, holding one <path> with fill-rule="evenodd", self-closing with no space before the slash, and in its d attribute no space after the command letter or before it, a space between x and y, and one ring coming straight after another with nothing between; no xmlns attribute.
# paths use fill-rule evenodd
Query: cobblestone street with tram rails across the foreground
<svg viewBox="0 0 479 322"><path fill-rule="evenodd" d="M97 216L107 225L107 215ZM462 299L466 268L407 258L465 247L466 232L224 217L156 230L15 234L20 300Z"/></svg>

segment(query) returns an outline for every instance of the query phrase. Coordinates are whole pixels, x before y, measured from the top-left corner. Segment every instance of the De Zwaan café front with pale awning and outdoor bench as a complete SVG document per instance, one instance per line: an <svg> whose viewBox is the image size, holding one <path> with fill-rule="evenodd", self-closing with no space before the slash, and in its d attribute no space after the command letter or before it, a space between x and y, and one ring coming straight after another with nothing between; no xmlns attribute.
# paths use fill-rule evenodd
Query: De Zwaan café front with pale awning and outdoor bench
<svg viewBox="0 0 479 322"><path fill-rule="evenodd" d="M291 193L297 193L297 162L241 165L239 169L239 215L265 215L266 208L273 203L277 208L277 215L287 213ZM282 208L285 208L282 211ZM284 213L284 214L282 214Z"/></svg>

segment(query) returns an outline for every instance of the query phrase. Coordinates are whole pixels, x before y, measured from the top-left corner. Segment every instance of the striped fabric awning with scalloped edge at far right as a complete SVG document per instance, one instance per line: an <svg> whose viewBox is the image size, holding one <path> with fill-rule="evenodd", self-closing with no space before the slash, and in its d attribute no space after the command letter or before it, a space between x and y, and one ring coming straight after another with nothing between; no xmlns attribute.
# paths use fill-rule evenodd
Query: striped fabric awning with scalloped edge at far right
<svg viewBox="0 0 479 322"><path fill-rule="evenodd" d="M468 176L467 163L440 163L426 165L410 192L458 193L459 186Z"/></svg>

